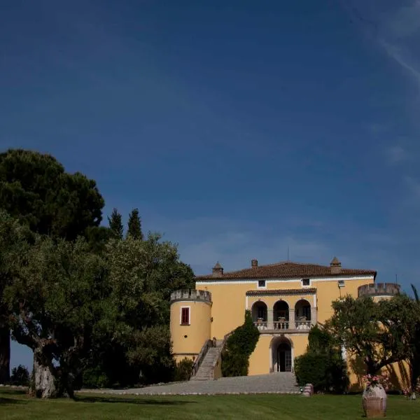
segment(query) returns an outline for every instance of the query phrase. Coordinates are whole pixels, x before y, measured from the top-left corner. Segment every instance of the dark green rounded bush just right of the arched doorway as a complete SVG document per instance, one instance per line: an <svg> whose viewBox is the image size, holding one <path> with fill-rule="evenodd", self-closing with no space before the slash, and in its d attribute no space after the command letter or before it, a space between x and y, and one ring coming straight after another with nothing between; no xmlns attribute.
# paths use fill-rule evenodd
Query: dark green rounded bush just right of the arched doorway
<svg viewBox="0 0 420 420"><path fill-rule="evenodd" d="M335 339L315 325L309 331L307 353L295 359L295 375L300 386L313 384L315 391L342 393L349 385L346 363Z"/></svg>

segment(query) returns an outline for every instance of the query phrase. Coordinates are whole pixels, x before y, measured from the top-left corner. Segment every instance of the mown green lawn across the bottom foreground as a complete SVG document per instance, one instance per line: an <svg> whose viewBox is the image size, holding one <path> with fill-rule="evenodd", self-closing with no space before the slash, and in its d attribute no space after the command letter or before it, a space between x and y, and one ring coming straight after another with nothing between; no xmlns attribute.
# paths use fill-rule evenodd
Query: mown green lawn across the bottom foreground
<svg viewBox="0 0 420 420"><path fill-rule="evenodd" d="M0 419L360 419L360 395L121 396L82 395L73 400L33 400L0 391ZM420 400L388 398L387 419L419 419Z"/></svg>

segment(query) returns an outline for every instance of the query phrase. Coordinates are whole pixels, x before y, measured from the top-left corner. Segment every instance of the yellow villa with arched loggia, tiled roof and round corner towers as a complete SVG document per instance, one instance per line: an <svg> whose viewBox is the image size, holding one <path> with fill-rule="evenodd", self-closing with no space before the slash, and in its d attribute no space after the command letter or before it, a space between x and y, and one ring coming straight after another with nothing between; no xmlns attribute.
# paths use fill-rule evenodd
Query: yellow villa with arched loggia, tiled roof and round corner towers
<svg viewBox="0 0 420 420"><path fill-rule="evenodd" d="M251 311L260 339L249 359L248 374L293 372L294 360L307 349L311 325L332 316L331 303L344 295L370 294L375 298L394 294L398 287L375 284L370 269L343 268L334 258L330 265L280 262L197 276L197 290L172 293L171 335L176 360L195 360L198 367L207 356L202 379L220 376L224 339L244 323Z"/></svg>

